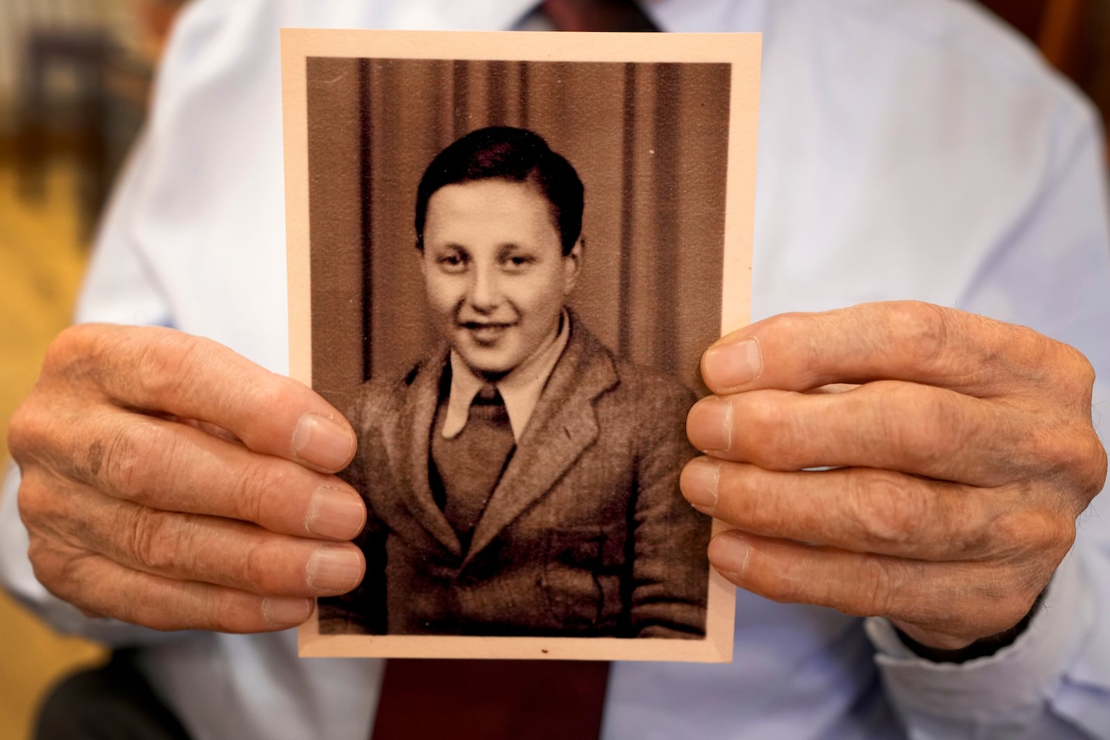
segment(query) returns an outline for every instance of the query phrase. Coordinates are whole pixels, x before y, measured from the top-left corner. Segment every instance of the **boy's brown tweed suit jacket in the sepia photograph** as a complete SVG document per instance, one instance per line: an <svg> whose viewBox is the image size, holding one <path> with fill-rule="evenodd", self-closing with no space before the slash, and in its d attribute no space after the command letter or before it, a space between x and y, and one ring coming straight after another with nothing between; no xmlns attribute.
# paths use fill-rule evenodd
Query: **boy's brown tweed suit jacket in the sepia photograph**
<svg viewBox="0 0 1110 740"><path fill-rule="evenodd" d="M693 393L579 321L465 550L430 484L447 351L364 384L345 472L369 510L362 585L323 633L703 637L710 520L678 489Z"/></svg>

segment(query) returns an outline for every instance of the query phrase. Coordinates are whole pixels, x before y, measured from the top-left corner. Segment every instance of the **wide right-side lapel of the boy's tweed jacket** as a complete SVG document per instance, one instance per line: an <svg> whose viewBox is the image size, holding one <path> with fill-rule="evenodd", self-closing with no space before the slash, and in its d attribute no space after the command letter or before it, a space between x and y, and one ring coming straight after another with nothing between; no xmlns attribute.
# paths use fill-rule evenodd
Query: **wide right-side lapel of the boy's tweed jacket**
<svg viewBox="0 0 1110 740"><path fill-rule="evenodd" d="M571 331L513 459L478 519L464 565L551 490L597 439L593 402L616 384L617 374L608 351L576 318Z"/></svg>

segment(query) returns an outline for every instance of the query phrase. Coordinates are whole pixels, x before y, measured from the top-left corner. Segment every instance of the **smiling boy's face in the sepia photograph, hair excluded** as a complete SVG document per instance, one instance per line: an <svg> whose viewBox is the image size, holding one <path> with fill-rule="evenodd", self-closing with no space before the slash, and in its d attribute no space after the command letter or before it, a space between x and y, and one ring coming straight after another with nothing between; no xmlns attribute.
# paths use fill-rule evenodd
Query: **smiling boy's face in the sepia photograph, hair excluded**
<svg viewBox="0 0 1110 740"><path fill-rule="evenodd" d="M433 322L475 373L508 373L555 333L579 254L563 256L551 204L528 183L441 187L424 222Z"/></svg>

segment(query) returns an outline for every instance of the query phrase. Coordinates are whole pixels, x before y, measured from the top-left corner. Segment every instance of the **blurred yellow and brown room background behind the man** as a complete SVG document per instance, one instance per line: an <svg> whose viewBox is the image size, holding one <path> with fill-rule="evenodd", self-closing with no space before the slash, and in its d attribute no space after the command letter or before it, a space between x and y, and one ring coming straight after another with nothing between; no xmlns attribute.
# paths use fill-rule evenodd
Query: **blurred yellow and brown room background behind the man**
<svg viewBox="0 0 1110 740"><path fill-rule="evenodd" d="M1110 0L982 2L1110 119ZM0 0L0 440L47 344L69 321L92 229L182 4ZM0 442L0 464L6 458ZM102 656L0 596L0 738L28 737L43 688Z"/></svg>

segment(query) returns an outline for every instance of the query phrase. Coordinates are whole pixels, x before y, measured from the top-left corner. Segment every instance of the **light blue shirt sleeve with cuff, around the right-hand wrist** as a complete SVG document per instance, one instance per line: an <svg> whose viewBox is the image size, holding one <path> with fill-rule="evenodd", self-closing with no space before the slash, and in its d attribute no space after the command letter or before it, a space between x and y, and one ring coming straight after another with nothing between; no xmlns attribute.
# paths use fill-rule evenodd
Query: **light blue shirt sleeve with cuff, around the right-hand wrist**
<svg viewBox="0 0 1110 740"><path fill-rule="evenodd" d="M1110 409L1110 200L1096 118L1067 102L1042 187L958 307L1006 317L1083 352L1098 376L1099 428ZM1104 490L1080 516L1076 544L1026 632L993 656L934 663L911 653L888 621L867 621L909 737L1110 738L1108 506Z"/></svg>

